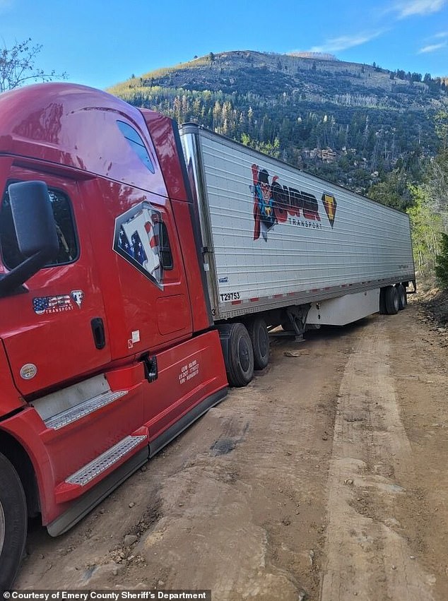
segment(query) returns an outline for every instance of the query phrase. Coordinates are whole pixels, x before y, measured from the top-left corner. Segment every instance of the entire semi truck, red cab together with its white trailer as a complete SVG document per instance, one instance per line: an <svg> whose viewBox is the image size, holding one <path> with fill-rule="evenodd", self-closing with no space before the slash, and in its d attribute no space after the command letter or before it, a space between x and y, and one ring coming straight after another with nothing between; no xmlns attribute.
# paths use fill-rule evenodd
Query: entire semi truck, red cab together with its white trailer
<svg viewBox="0 0 448 601"><path fill-rule="evenodd" d="M408 218L66 83L0 95L0 589L269 360L269 328L396 313ZM415 285L415 284L414 284Z"/></svg>

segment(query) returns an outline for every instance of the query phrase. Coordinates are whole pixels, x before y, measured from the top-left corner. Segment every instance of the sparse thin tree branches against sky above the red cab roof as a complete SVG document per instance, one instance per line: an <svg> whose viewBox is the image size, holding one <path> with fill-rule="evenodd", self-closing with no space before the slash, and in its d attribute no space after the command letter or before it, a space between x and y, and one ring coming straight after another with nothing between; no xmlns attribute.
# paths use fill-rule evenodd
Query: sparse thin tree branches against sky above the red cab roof
<svg viewBox="0 0 448 601"><path fill-rule="evenodd" d="M37 54L42 44L31 45L31 38L16 42L11 48L0 49L0 93L19 88L29 81L52 81L55 78L66 79L66 73L47 73L35 66Z"/></svg>

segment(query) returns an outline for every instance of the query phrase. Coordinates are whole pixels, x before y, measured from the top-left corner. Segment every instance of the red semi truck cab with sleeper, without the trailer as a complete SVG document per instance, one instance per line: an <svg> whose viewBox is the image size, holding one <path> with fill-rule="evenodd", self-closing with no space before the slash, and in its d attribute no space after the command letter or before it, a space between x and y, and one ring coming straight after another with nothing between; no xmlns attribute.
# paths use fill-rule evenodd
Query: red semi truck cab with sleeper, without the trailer
<svg viewBox="0 0 448 601"><path fill-rule="evenodd" d="M0 115L7 588L27 514L64 532L228 383L173 122L64 83Z"/></svg>

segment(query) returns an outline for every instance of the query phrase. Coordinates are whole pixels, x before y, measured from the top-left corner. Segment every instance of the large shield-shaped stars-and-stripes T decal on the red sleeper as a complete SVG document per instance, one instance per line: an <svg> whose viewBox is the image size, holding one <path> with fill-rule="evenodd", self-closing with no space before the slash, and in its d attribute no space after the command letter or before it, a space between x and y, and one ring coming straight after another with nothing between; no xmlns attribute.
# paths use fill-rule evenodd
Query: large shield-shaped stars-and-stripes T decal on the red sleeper
<svg viewBox="0 0 448 601"><path fill-rule="evenodd" d="M159 288L162 268L159 254L160 211L143 201L115 220L114 251Z"/></svg>

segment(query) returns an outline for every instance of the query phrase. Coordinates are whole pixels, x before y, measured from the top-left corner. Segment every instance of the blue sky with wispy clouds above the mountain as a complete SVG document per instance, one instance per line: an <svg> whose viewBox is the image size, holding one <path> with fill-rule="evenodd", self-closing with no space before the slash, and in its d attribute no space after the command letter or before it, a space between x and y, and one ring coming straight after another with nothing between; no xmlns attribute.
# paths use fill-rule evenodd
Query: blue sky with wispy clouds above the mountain
<svg viewBox="0 0 448 601"><path fill-rule="evenodd" d="M448 76L448 0L0 0L0 44L28 37L37 66L96 88L226 50Z"/></svg>

